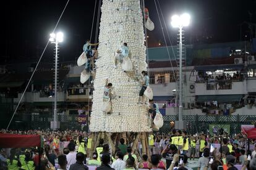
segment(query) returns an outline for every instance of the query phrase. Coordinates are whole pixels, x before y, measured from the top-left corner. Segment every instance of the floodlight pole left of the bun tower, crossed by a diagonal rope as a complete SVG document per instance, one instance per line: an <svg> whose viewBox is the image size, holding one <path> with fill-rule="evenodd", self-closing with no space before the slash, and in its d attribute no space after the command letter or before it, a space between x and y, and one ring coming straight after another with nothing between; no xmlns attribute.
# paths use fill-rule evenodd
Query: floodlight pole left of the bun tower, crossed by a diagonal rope
<svg viewBox="0 0 256 170"><path fill-rule="evenodd" d="M49 41L55 44L55 73L54 73L54 110L53 121L51 121L51 129L59 129L59 121L57 116L57 76L58 76L58 43L63 41L63 33L51 33Z"/></svg>

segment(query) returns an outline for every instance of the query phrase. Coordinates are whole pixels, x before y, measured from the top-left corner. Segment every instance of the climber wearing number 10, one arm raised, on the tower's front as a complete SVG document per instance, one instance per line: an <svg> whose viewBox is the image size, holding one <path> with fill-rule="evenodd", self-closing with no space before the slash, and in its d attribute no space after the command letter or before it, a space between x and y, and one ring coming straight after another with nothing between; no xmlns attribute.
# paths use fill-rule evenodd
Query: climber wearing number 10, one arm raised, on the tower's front
<svg viewBox="0 0 256 170"><path fill-rule="evenodd" d="M112 83L108 83L108 78L106 79L106 84L103 93L103 111L106 113L111 113L112 110L112 102L111 102L111 87Z"/></svg>

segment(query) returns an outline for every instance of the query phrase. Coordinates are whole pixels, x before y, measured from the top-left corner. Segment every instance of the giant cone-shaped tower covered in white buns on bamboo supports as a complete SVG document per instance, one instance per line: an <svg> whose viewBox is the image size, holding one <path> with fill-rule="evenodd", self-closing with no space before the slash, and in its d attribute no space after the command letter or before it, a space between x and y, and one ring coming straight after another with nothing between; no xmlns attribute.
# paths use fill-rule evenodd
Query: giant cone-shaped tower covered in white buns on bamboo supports
<svg viewBox="0 0 256 170"><path fill-rule="evenodd" d="M101 6L100 34L98 60L96 61L96 76L93 81L93 105L90 118L92 132L92 149L98 145L100 138L105 139L114 147L114 143L123 138L127 143L142 141L143 154L149 155L148 133L151 132L148 123L148 108L139 106L140 83L138 76L147 71L145 34L140 0L109 1L103 0ZM129 47L129 57L134 65L134 71L125 73L121 65L113 68L115 52L126 42ZM112 112L101 111L103 105L103 89L105 80L112 83L116 92L112 100ZM135 147L133 148L133 150Z"/></svg>

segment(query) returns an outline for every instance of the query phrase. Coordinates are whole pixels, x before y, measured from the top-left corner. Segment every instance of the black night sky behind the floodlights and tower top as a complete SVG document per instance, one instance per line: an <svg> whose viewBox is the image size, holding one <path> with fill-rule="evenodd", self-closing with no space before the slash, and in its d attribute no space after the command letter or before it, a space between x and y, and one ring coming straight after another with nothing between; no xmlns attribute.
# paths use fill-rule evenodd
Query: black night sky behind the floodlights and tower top
<svg viewBox="0 0 256 170"><path fill-rule="evenodd" d="M186 44L240 39L244 41L245 35L250 38L249 28L247 25L242 27L239 25L242 22L256 23L256 0L158 1L174 44L177 43L177 30L169 25L173 14L187 12L192 17L190 26L185 29ZM4 2L1 9L1 27L4 30L1 31L1 64L13 60L38 59L66 2L64 0ZM70 0L57 28L63 31L65 36L61 44L62 62L75 61L82 52L84 42L90 38L94 4L93 0ZM158 42L164 44L155 2L145 0L145 6L148 7L150 18L155 23L155 30L148 33L149 46L158 46ZM50 44L43 60L53 59L52 57L53 44Z"/></svg>

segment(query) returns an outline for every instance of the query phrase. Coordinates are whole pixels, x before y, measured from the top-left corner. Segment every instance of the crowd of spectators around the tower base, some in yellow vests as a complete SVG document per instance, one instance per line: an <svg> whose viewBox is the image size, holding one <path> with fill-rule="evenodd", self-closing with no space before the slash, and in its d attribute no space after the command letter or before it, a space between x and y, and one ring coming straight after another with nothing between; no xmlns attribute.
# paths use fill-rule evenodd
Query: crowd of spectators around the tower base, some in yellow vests
<svg viewBox="0 0 256 170"><path fill-rule="evenodd" d="M173 130L169 134L150 134L148 136L150 155L142 153L139 142L137 152L132 151L132 143L125 144L121 139L116 152L101 139L90 156L90 134L82 131L2 131L10 134L40 134L44 140L43 148L1 149L0 166L4 163L9 169L189 169L190 161L197 161L198 170L256 169L256 145L254 140L244 134L229 136L215 134L187 134L186 131ZM68 142L61 148L61 142ZM247 143L255 145L247 150ZM222 144L221 147L218 144ZM219 147L216 147L216 144ZM98 150L98 148L101 148ZM197 160L197 158L199 158ZM237 164L235 166L235 164Z"/></svg>

